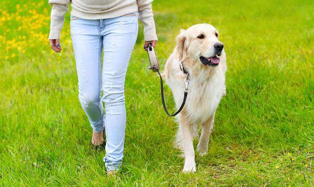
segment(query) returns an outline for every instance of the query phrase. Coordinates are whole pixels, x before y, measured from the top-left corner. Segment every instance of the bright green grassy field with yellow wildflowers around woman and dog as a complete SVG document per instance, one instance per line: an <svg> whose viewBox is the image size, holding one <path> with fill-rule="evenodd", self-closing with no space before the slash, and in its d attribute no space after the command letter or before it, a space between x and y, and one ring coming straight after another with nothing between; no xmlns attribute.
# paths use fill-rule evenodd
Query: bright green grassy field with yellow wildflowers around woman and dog
<svg viewBox="0 0 314 187"><path fill-rule="evenodd" d="M77 98L69 14L56 54L47 1L12 0L0 2L0 185L313 186L313 2L156 0L153 10L162 67L180 28L211 23L225 46L227 96L197 173L181 173L176 123L151 97L159 78L143 24L126 80L124 165L108 178Z"/></svg>

